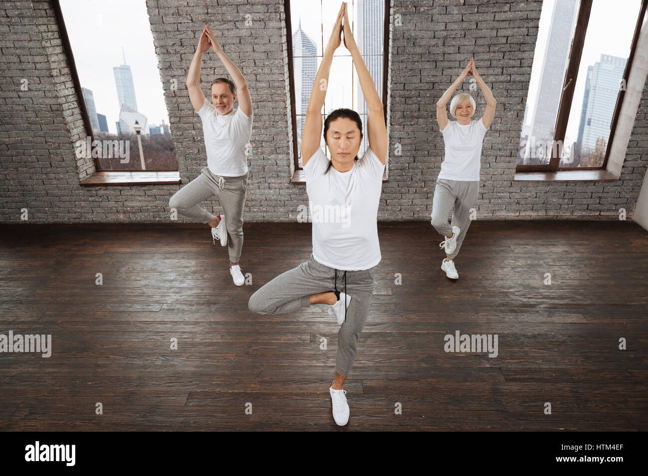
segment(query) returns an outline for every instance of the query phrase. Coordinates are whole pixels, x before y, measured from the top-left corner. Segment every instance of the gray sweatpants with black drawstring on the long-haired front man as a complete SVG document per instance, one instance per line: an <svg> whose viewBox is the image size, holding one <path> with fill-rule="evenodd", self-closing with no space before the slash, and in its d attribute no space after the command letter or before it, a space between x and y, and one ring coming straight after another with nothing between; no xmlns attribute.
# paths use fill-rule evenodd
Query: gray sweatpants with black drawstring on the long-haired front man
<svg viewBox="0 0 648 476"><path fill-rule="evenodd" d="M373 267L360 271L343 271L324 266L311 254L307 261L282 273L258 289L249 298L248 308L257 314L296 311L310 306L311 294L333 291L337 285L338 291L346 292L351 296L347 308L347 321L338 331L338 350L335 359L336 372L347 376L356 359L358 339L369 315L373 295L373 273ZM347 291L344 289L345 277ZM336 325L334 315L330 320L332 325Z"/></svg>

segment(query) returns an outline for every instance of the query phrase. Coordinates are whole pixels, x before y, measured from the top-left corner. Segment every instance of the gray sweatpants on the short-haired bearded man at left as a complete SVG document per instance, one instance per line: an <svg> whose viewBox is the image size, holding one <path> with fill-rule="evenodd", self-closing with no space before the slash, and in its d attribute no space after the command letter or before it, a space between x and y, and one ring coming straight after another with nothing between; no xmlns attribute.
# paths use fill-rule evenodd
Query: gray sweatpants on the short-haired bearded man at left
<svg viewBox="0 0 648 476"><path fill-rule="evenodd" d="M229 260L238 263L243 248L243 206L248 190L248 174L238 177L215 176L203 167L200 175L180 188L168 201L171 209L192 220L207 223L212 214L198 205L216 196L225 214Z"/></svg>

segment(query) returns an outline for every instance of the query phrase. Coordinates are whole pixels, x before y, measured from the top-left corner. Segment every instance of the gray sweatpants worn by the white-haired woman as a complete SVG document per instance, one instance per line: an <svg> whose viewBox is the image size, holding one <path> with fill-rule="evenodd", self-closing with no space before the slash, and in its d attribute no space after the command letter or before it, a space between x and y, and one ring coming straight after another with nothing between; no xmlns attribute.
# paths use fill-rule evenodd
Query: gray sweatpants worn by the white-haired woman
<svg viewBox="0 0 648 476"><path fill-rule="evenodd" d="M444 238L452 233L452 227L455 225L461 230L457 236L457 247L447 255L448 258L454 259L459 254L463 238L470 226L470 209L477 203L479 189L479 181L437 179L432 201L432 226ZM448 223L448 215L453 207L452 223Z"/></svg>

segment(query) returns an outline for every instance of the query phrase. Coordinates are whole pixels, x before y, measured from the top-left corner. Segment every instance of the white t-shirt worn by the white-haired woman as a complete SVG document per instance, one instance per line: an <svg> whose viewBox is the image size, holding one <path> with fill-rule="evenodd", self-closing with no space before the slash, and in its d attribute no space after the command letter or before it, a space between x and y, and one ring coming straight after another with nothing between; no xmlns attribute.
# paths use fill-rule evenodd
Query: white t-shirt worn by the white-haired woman
<svg viewBox="0 0 648 476"><path fill-rule="evenodd" d="M479 120L471 120L465 126L456 120L448 120L441 131L445 142L445 159L437 179L479 181L481 144L488 129Z"/></svg>

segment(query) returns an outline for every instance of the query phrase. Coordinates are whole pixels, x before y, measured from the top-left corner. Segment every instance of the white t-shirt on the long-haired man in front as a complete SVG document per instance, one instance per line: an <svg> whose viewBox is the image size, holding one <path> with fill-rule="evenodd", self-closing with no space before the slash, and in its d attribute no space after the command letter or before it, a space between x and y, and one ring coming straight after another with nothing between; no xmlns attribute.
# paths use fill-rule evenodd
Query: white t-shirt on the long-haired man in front
<svg viewBox="0 0 648 476"><path fill-rule="evenodd" d="M367 147L349 172L330 166L321 148L304 166L312 217L313 258L335 269L357 271L380 262L378 201L385 164Z"/></svg>

